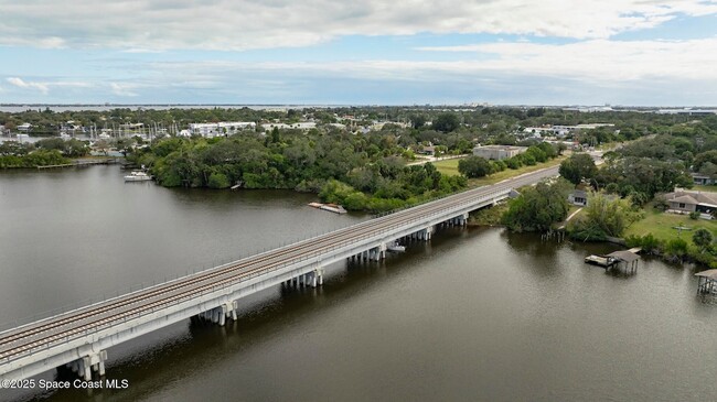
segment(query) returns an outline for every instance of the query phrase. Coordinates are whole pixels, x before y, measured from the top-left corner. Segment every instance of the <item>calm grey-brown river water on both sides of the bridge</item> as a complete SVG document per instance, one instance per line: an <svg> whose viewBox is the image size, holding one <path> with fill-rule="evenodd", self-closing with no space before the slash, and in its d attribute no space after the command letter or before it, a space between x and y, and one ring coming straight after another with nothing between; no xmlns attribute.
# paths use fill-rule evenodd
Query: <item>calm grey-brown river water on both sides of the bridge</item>
<svg viewBox="0 0 717 402"><path fill-rule="evenodd" d="M0 172L0 323L368 218L307 207L312 195L121 176ZM331 265L318 290L243 300L225 327L188 320L109 349L107 378L127 389L0 400L714 400L717 303L695 295L688 267L646 260L625 276L582 263L612 249L446 229L381 263Z"/></svg>

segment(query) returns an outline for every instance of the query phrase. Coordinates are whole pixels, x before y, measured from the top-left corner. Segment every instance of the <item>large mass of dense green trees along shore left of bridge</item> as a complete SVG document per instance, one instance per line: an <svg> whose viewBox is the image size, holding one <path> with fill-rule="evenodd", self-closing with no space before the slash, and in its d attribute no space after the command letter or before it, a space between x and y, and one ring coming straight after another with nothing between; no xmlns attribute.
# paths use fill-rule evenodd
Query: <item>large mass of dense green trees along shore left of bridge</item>
<svg viewBox="0 0 717 402"><path fill-rule="evenodd" d="M168 187L293 188L321 192L349 209L386 210L456 192L462 176L430 163L404 166L405 149L388 134L278 130L216 139L168 139L130 159Z"/></svg>

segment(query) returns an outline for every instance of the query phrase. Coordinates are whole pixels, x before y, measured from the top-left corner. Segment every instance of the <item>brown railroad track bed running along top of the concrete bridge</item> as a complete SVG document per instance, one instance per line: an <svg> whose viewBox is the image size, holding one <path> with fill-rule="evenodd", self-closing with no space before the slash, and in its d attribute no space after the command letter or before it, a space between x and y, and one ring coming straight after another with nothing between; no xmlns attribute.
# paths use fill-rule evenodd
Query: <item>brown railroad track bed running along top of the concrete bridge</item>
<svg viewBox="0 0 717 402"><path fill-rule="evenodd" d="M199 272L178 280L136 291L106 302L83 307L56 317L41 319L23 327L0 334L0 361L9 361L14 356L35 348L47 347L54 341L69 339L88 330L98 330L103 326L124 323L148 311L156 311L189 300L204 292L227 286L257 274L300 261L307 256L343 247L351 242L376 236L406 221L434 215L447 208L458 207L475 197L504 193L539 178L555 175L557 167L552 167L502 182L490 187L463 192L443 199L402 210L373 220L364 221L313 239L302 240L272 251L249 257L229 264Z"/></svg>

